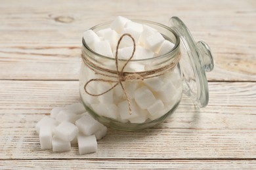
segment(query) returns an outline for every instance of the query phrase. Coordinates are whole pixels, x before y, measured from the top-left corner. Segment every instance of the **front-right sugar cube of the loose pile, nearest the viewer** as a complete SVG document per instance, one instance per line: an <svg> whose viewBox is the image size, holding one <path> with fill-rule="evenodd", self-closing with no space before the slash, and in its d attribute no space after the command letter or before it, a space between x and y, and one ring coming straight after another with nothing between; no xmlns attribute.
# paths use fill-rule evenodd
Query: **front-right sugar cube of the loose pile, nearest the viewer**
<svg viewBox="0 0 256 170"><path fill-rule="evenodd" d="M95 135L85 136L79 134L77 136L79 154L89 154L96 152L98 149Z"/></svg>

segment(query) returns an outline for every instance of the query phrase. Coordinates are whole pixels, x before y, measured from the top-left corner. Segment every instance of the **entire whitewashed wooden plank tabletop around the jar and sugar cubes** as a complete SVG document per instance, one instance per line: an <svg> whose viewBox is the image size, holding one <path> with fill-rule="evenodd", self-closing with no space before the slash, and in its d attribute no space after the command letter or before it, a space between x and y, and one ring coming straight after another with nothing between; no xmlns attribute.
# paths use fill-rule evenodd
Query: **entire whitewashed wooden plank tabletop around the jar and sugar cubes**
<svg viewBox="0 0 256 170"><path fill-rule="evenodd" d="M117 15L179 16L207 42L209 105L182 100L160 126L109 129L93 154L41 150L36 122L79 101L83 31ZM255 0L1 0L0 37L0 169L256 169Z"/></svg>

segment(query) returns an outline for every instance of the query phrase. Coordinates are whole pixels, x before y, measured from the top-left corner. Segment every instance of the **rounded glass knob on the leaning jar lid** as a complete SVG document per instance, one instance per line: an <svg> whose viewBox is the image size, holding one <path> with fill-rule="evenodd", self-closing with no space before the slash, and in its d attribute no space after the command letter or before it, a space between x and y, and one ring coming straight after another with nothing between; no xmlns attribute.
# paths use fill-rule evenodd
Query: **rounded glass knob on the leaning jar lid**
<svg viewBox="0 0 256 170"><path fill-rule="evenodd" d="M211 54L211 48L203 41L196 42L196 50L198 56L200 56L200 61L202 61L203 69L207 72L213 70L214 60L213 54Z"/></svg>

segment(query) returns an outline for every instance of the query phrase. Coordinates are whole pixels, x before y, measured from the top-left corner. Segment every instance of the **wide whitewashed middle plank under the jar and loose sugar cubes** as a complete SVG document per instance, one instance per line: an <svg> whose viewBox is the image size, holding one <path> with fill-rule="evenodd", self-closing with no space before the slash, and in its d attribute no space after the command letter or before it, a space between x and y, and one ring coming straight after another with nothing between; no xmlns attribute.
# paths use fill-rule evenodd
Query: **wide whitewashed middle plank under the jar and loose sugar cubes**
<svg viewBox="0 0 256 170"><path fill-rule="evenodd" d="M15 82L15 83L14 83ZM208 107L186 99L163 124L136 132L109 129L98 152L40 150L34 126L54 106L79 101L76 81L0 83L1 159L255 159L254 82L210 82Z"/></svg>

